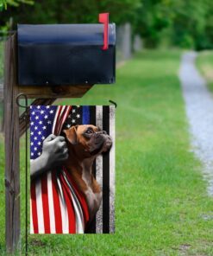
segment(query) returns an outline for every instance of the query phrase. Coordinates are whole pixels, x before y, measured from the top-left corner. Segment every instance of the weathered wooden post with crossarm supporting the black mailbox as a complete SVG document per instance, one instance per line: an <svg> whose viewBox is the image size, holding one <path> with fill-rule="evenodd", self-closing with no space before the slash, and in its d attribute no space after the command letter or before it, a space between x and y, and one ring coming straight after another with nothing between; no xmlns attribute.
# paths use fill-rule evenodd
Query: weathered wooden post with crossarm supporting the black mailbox
<svg viewBox="0 0 213 256"><path fill-rule="evenodd" d="M19 93L34 99L32 105L50 105L57 98L79 98L89 91L92 85L78 86L18 86L17 84L17 43L16 34L11 35L5 47L4 75L4 118L5 118L5 197L6 225L5 239L8 253L20 246L20 167L19 139L28 129L19 117L16 97ZM29 114L29 113L28 113Z"/></svg>

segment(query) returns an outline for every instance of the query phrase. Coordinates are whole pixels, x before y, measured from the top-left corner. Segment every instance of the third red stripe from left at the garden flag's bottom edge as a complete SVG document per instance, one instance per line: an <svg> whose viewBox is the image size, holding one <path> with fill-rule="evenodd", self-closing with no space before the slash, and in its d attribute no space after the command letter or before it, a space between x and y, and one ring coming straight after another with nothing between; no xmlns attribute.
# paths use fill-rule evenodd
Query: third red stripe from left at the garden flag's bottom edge
<svg viewBox="0 0 213 256"><path fill-rule="evenodd" d="M62 218L60 211L60 197L58 194L58 184L56 180L56 172L52 173L52 187L53 187L53 206L55 219L55 233L62 234Z"/></svg>

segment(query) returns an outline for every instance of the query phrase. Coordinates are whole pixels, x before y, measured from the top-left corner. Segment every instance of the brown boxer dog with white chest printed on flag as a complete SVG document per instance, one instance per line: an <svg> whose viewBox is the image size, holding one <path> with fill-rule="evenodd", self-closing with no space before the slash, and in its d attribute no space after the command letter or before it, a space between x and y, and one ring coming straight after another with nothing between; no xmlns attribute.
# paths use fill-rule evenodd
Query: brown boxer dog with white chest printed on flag
<svg viewBox="0 0 213 256"><path fill-rule="evenodd" d="M76 125L63 132L69 153L64 165L85 195L91 221L102 200L100 185L91 173L92 163L98 155L110 150L112 140L106 131L94 125Z"/></svg>

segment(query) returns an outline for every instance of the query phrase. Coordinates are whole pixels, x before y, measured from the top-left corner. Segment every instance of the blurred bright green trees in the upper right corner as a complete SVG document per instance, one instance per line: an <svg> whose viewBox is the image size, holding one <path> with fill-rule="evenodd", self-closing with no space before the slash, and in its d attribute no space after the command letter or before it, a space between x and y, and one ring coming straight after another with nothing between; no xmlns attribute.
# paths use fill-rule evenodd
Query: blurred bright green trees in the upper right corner
<svg viewBox="0 0 213 256"><path fill-rule="evenodd" d="M135 22L147 47L167 40L181 48L213 48L211 0L141 0Z"/></svg>

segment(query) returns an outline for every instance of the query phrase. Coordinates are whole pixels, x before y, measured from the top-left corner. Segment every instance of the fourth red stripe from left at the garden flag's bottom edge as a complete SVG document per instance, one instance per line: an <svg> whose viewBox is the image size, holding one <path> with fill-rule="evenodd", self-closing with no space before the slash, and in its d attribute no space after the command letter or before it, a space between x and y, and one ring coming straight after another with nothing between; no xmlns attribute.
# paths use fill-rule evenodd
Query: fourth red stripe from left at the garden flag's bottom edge
<svg viewBox="0 0 213 256"><path fill-rule="evenodd" d="M76 234L76 216L74 207L72 204L72 197L70 195L70 189L67 187L64 176L60 173L61 187L65 196L65 202L69 220L69 234Z"/></svg>

